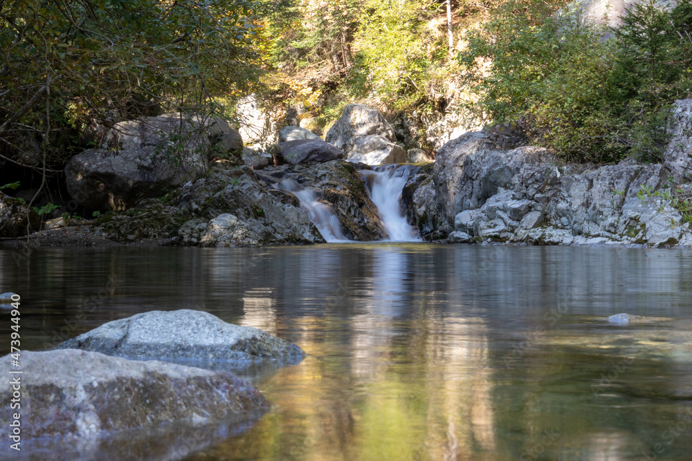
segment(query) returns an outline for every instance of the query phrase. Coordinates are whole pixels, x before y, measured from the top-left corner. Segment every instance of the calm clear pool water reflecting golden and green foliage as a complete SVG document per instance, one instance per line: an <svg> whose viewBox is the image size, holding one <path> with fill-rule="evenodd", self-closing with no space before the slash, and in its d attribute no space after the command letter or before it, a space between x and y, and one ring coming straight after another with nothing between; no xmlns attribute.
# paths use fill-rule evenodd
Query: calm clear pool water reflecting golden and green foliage
<svg viewBox="0 0 692 461"><path fill-rule="evenodd" d="M193 308L311 354L253 378L272 411L188 460L691 459L684 251L354 243L37 250L29 263L6 251L0 262L0 292L22 297L26 349ZM75 321L93 296L102 302ZM605 320L619 312L651 321ZM172 449L143 444L127 459L184 452Z"/></svg>

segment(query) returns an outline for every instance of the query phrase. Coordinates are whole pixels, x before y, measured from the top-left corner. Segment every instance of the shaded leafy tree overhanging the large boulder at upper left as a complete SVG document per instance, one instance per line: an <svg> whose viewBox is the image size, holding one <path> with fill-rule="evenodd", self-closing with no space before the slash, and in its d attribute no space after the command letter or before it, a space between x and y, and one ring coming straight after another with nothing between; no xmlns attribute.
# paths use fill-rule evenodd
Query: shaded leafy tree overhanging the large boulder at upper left
<svg viewBox="0 0 692 461"><path fill-rule="evenodd" d="M32 138L60 166L65 133L89 123L153 108L212 110L212 97L257 82L261 8L253 0L0 2L0 143L14 149Z"/></svg>

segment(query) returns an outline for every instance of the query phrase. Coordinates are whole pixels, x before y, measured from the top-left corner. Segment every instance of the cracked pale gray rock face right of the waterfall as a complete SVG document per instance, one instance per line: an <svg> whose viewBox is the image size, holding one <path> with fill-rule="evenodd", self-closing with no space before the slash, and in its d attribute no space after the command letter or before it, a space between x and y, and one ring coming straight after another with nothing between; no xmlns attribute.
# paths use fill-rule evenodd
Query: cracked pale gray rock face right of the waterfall
<svg viewBox="0 0 692 461"><path fill-rule="evenodd" d="M662 164L626 159L589 169L565 164L545 149L502 150L486 133L466 133L439 149L432 186L419 189L434 197L434 208L430 199L412 201L421 236L431 238L428 223L437 214L432 238L458 233L450 241L471 236L538 245L691 245L689 216L661 197L671 185L683 193L691 189L691 104L676 102L673 140ZM646 190L659 195L642 196Z"/></svg>

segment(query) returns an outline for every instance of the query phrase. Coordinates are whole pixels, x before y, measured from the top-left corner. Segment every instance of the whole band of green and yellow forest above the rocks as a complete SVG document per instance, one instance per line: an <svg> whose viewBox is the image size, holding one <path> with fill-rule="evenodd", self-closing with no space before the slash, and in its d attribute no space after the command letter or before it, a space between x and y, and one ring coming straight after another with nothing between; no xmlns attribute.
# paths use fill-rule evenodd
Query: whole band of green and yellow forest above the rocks
<svg viewBox="0 0 692 461"><path fill-rule="evenodd" d="M0 155L30 140L59 168L94 124L255 93L322 126L350 102L417 114L421 131L464 111L570 160L658 160L692 93L690 0L645 0L617 30L566 4L0 1Z"/></svg>

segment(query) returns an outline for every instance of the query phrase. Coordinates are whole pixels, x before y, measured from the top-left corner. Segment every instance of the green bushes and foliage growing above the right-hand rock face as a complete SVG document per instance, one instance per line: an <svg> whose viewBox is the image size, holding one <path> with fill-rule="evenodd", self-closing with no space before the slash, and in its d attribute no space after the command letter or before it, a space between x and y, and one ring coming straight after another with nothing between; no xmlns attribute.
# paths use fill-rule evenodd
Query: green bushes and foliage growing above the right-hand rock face
<svg viewBox="0 0 692 461"><path fill-rule="evenodd" d="M689 4L663 12L652 0L607 30L554 14L561 3L510 1L459 57L480 98L468 109L570 160L658 160L670 104L692 88L690 41L678 33Z"/></svg>

